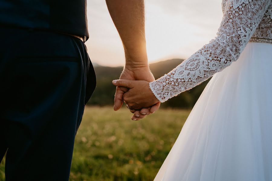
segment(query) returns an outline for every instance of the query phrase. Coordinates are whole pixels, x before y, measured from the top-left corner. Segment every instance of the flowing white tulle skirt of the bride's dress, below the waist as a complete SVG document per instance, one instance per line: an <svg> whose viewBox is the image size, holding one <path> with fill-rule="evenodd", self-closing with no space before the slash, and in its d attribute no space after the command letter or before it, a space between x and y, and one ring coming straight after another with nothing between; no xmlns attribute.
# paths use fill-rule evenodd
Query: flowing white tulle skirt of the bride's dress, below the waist
<svg viewBox="0 0 272 181"><path fill-rule="evenodd" d="M272 44L248 43L203 90L155 180L272 181Z"/></svg>

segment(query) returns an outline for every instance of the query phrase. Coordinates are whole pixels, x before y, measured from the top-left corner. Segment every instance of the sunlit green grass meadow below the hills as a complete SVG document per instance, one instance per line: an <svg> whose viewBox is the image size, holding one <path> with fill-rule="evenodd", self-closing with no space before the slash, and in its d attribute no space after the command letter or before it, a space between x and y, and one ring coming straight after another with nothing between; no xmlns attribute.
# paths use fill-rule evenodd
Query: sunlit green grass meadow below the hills
<svg viewBox="0 0 272 181"><path fill-rule="evenodd" d="M70 181L153 180L190 110L160 109L132 121L126 109L86 107L76 135ZM0 180L4 180L4 160Z"/></svg>

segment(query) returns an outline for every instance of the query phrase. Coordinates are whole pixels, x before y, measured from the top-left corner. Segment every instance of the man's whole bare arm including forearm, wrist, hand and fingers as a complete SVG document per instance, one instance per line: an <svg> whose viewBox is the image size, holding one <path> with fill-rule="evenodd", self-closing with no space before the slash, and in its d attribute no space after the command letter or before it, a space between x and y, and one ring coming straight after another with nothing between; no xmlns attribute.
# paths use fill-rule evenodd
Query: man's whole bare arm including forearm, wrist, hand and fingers
<svg viewBox="0 0 272 181"><path fill-rule="evenodd" d="M154 81L147 63L144 0L106 0L112 21L122 40L126 64L121 79ZM125 87L117 87L114 110L123 105L123 94L128 91ZM155 112L160 103L141 110L143 115ZM132 113L135 111L132 110Z"/></svg>

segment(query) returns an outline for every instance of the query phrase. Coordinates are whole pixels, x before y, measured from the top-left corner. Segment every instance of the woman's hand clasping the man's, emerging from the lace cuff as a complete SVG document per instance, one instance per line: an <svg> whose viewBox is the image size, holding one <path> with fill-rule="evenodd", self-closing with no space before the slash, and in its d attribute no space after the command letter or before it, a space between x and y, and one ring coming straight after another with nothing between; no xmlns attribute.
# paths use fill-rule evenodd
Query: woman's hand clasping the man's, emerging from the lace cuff
<svg viewBox="0 0 272 181"><path fill-rule="evenodd" d="M159 100L154 96L153 92L149 88L148 81L131 81L131 80L114 80L112 83L118 87L127 87L129 90L123 95L123 100L129 106L131 110L141 110L141 113L149 114L154 113L157 110L156 106L154 110L149 108L154 104L159 105ZM143 109L147 108L147 109ZM137 112L138 113L138 112ZM140 113L140 112L139 112ZM146 115L145 114L145 115ZM134 113L134 115L136 115ZM144 114L143 114L144 115ZM142 117L144 117L142 115ZM138 117L138 118L142 118Z"/></svg>

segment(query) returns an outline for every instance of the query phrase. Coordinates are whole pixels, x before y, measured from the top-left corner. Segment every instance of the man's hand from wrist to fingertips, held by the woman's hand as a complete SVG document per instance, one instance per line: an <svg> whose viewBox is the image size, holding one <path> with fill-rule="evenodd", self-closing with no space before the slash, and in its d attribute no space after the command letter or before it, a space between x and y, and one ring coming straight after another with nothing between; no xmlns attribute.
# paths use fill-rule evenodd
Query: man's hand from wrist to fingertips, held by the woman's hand
<svg viewBox="0 0 272 181"><path fill-rule="evenodd" d="M120 79L128 79L128 80L145 80L147 82L152 82L155 80L153 74L150 72L148 66L142 66L142 67L125 67L124 71L122 72ZM114 99L114 110L117 111L121 108L123 105L123 95L125 92L128 91L128 88L126 87L116 87L116 93L115 93L115 99ZM141 112L137 111L139 117L141 118L145 117L145 115L149 115L150 113L154 113L157 111L160 107L160 102L156 103L155 105L144 108L141 110ZM132 113L135 112L135 110L131 110Z"/></svg>

